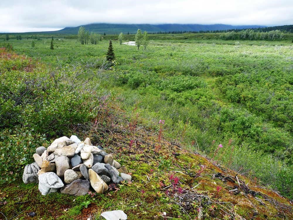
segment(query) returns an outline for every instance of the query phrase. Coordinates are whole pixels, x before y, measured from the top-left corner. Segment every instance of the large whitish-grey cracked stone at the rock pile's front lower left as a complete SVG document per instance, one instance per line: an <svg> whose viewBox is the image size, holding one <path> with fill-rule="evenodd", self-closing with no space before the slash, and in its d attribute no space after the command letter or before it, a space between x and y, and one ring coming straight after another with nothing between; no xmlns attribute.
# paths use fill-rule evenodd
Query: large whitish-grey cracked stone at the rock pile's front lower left
<svg viewBox="0 0 293 220"><path fill-rule="evenodd" d="M39 176L39 190L42 195L57 192L59 188L64 187L62 180L54 172L47 172Z"/></svg>

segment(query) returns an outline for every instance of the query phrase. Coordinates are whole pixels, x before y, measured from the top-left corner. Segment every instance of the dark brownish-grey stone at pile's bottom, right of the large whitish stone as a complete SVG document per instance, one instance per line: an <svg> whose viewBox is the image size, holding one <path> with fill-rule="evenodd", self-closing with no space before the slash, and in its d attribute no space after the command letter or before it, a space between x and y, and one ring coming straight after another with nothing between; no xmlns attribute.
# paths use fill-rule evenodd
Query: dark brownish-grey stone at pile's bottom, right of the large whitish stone
<svg viewBox="0 0 293 220"><path fill-rule="evenodd" d="M77 179L69 185L61 189L61 193L69 194L71 196L82 196L88 193L90 189L90 181Z"/></svg>

